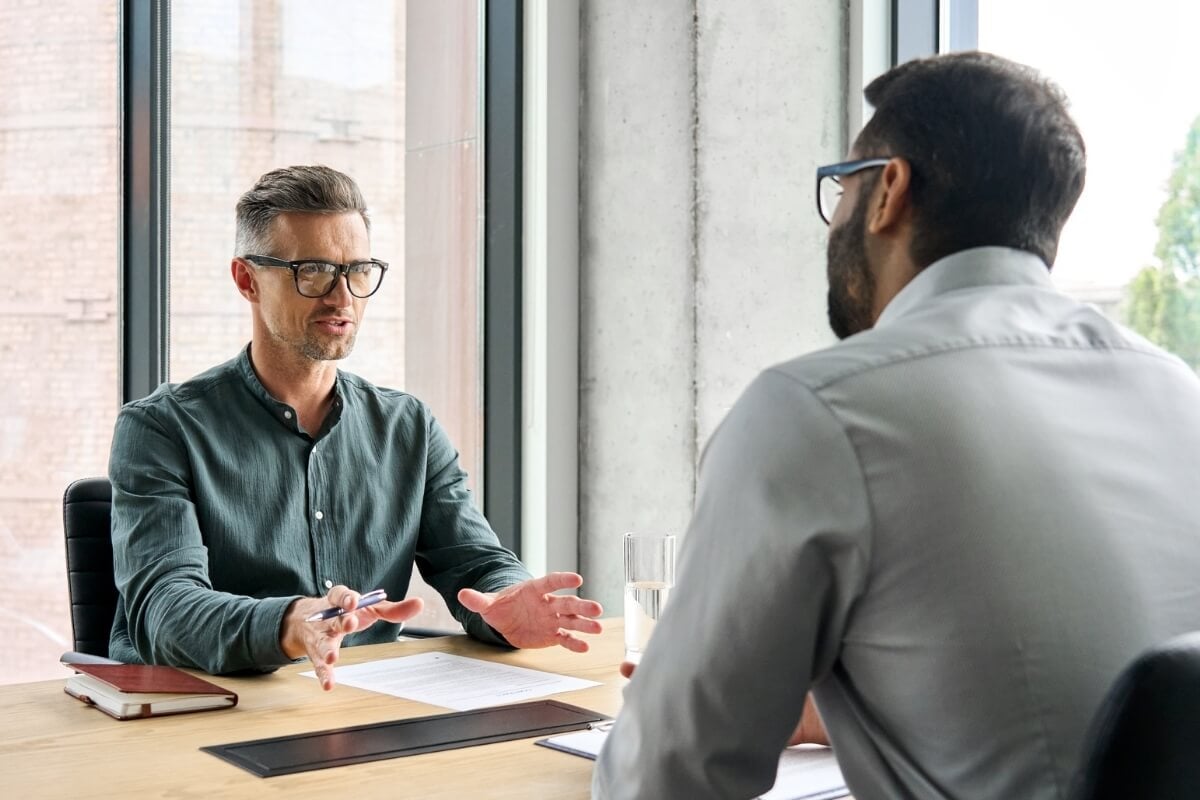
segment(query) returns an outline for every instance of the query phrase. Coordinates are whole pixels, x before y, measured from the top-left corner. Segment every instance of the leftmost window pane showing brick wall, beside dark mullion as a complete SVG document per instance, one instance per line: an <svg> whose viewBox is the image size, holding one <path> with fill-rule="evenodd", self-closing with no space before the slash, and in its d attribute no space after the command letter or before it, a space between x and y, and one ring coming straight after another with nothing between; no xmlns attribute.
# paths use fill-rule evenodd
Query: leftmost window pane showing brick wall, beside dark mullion
<svg viewBox="0 0 1200 800"><path fill-rule="evenodd" d="M0 682L14 682L66 676L62 492L106 474L120 402L116 0L0 4Z"/></svg>

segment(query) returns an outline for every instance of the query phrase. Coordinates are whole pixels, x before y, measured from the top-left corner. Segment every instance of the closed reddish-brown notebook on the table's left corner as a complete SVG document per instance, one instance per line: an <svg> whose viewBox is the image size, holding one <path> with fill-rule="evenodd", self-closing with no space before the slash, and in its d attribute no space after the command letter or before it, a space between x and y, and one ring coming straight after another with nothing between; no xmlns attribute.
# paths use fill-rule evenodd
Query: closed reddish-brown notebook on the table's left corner
<svg viewBox="0 0 1200 800"><path fill-rule="evenodd" d="M224 709L238 704L234 692L174 667L66 666L78 670L67 679L66 693L118 720Z"/></svg>

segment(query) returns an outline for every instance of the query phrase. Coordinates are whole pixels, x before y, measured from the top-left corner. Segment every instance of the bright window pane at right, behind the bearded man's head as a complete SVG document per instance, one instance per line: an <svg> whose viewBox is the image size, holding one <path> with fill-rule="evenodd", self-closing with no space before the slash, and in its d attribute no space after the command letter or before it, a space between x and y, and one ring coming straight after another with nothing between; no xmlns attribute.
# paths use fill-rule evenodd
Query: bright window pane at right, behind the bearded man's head
<svg viewBox="0 0 1200 800"><path fill-rule="evenodd" d="M1057 284L1200 368L1195 0L979 0L979 47L1056 80L1087 144ZM1069 41L1068 41L1069 38Z"/></svg>

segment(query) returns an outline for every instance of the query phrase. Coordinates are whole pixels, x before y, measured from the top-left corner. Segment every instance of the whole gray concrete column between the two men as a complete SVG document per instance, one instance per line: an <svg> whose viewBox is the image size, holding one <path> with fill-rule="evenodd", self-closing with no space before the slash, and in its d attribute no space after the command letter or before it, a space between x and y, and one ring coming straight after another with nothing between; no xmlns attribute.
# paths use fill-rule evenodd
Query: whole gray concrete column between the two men
<svg viewBox="0 0 1200 800"><path fill-rule="evenodd" d="M620 534L684 533L728 408L833 341L814 173L846 149L847 18L845 0L582 4L580 558L612 614Z"/></svg>

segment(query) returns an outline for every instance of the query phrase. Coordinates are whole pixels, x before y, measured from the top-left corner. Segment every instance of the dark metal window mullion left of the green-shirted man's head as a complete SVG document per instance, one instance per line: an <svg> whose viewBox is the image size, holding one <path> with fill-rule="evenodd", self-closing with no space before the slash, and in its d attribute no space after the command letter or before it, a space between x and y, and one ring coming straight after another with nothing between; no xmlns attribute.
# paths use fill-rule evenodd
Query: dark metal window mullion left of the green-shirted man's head
<svg viewBox="0 0 1200 800"><path fill-rule="evenodd" d="M167 380L170 4L121 2L121 402Z"/></svg>

